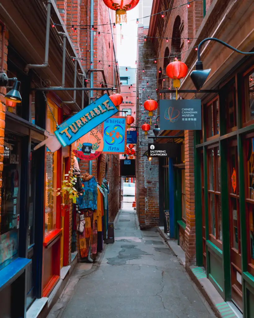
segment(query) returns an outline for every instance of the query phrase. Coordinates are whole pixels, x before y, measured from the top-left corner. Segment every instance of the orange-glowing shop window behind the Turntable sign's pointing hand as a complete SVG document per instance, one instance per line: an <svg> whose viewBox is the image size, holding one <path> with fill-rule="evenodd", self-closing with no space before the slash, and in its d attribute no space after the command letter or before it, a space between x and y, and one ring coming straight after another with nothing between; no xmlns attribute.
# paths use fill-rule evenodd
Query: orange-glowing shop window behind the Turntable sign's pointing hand
<svg viewBox="0 0 254 318"><path fill-rule="evenodd" d="M49 106L57 120L57 107L49 102ZM54 133L56 123L48 107L47 111L47 130ZM47 149L46 153L46 183L45 183L45 233L48 233L56 228L56 208L57 208L57 152L52 153Z"/></svg>

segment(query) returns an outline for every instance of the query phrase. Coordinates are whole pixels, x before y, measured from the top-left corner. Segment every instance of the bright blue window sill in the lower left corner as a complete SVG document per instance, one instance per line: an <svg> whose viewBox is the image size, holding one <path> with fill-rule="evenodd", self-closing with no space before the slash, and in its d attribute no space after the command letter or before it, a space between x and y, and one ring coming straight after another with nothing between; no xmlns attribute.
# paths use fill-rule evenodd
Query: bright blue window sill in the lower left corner
<svg viewBox="0 0 254 318"><path fill-rule="evenodd" d="M0 271L0 291L14 282L31 262L31 259L18 257Z"/></svg>

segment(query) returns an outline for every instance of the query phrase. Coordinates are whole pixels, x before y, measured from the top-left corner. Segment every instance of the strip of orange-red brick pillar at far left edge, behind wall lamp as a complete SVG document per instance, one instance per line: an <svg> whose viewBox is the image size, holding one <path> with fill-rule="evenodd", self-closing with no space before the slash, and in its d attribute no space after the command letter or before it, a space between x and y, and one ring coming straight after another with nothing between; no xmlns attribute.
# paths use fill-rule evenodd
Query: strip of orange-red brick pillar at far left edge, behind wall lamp
<svg viewBox="0 0 254 318"><path fill-rule="evenodd" d="M0 26L0 34L2 34L2 27ZM8 54L8 30L5 31L5 44L4 44L4 61L3 69L4 72L7 72L7 54ZM0 39L0 57L2 56L2 41ZM2 62L2 61L1 61ZM6 94L6 87L0 87L0 188L2 187L2 172L3 172L3 153L4 153L4 128L5 128L5 99L4 95ZM1 194L0 194L0 220L1 220ZM1 234L1 233L0 233Z"/></svg>

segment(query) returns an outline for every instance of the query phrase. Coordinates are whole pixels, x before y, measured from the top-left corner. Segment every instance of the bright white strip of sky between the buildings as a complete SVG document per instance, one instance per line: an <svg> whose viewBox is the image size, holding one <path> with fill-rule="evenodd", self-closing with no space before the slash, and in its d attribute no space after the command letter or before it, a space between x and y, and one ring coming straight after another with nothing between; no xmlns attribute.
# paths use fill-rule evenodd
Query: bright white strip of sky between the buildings
<svg viewBox="0 0 254 318"><path fill-rule="evenodd" d="M119 68L121 66L137 67L135 61L137 59L137 26L138 5L127 11L127 23L122 24L122 34L117 36L117 59ZM131 21L134 20L134 21ZM117 33L120 34L120 26L117 25Z"/></svg>

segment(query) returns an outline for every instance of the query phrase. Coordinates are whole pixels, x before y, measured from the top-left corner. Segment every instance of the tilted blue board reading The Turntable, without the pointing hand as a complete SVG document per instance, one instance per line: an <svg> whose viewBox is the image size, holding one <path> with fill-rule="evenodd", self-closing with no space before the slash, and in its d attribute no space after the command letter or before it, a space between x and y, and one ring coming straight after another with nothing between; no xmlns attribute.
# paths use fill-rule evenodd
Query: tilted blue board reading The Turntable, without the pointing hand
<svg viewBox="0 0 254 318"><path fill-rule="evenodd" d="M69 146L117 111L109 96L104 94L59 125L55 135L63 147Z"/></svg>

